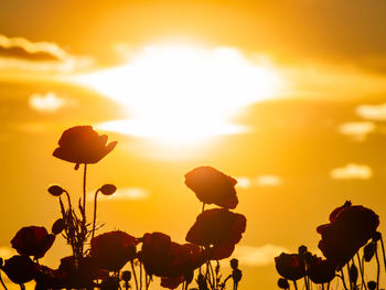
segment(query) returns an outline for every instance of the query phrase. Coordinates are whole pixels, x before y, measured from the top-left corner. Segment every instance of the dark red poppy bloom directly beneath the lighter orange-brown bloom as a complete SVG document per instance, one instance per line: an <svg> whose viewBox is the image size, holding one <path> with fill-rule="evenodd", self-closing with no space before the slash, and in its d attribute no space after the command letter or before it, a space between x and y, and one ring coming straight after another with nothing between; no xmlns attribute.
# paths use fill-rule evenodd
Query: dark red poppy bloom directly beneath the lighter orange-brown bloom
<svg viewBox="0 0 386 290"><path fill-rule="evenodd" d="M186 240L206 248L222 245L228 245L229 248L229 245L235 245L242 239L246 223L244 215L226 208L207 210L197 216L187 232Z"/></svg>

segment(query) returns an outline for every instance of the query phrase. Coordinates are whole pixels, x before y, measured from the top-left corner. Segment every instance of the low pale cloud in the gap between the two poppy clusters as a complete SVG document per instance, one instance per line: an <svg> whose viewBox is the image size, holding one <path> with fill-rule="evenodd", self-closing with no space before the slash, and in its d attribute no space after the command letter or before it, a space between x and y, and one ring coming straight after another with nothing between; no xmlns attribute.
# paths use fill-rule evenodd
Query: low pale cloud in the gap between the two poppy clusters
<svg viewBox="0 0 386 290"><path fill-rule="evenodd" d="M236 246L232 257L237 258L240 264L247 266L268 266L274 264L275 257L289 250L281 246L267 244L260 247Z"/></svg>

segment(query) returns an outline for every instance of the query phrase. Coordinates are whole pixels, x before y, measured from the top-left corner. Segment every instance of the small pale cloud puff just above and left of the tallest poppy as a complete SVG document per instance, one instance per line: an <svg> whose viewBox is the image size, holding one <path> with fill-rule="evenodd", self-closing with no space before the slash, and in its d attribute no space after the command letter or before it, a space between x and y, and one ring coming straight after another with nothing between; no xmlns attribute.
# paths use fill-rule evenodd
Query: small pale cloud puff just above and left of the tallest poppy
<svg viewBox="0 0 386 290"><path fill-rule="evenodd" d="M45 94L34 93L29 98L29 105L32 109L40 112L56 112L58 109L68 106L76 106L74 100L58 97L55 93Z"/></svg>

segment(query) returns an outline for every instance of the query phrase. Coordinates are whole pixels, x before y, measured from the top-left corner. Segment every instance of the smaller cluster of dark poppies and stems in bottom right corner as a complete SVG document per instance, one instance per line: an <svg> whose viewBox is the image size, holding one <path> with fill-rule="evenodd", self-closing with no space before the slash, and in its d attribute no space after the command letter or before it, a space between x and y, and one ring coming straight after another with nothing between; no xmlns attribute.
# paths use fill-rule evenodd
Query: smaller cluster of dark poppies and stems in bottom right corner
<svg viewBox="0 0 386 290"><path fill-rule="evenodd" d="M321 235L318 247L325 258L312 255L305 246L300 246L297 254L282 253L275 258L276 269L281 276L279 288L290 289L290 280L298 289L297 281L302 279L307 290L314 284L329 290L332 281L337 279L336 282L344 290L379 290L378 251L382 251L385 271L386 258L382 234L377 232L378 225L379 217L372 210L345 202L332 211L330 223L317 227ZM376 279L367 280L365 266L374 257Z"/></svg>

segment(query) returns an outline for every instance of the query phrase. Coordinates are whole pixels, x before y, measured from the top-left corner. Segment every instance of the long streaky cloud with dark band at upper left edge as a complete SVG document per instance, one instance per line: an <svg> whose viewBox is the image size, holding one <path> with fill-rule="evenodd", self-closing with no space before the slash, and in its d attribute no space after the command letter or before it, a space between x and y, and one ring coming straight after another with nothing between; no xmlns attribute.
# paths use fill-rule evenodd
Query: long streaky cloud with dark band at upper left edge
<svg viewBox="0 0 386 290"><path fill-rule="evenodd" d="M73 72L92 64L92 58L71 55L56 43L0 34L0 69Z"/></svg>

